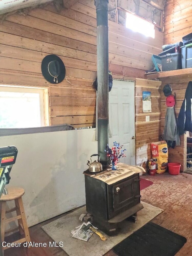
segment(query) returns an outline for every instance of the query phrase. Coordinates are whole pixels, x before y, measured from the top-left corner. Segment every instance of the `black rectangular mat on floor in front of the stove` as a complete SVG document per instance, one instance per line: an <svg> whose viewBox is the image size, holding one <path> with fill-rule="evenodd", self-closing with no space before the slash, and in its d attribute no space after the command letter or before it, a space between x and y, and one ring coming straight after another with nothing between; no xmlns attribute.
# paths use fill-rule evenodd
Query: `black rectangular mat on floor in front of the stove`
<svg viewBox="0 0 192 256"><path fill-rule="evenodd" d="M174 256L187 242L180 236L149 222L113 248L119 256Z"/></svg>

